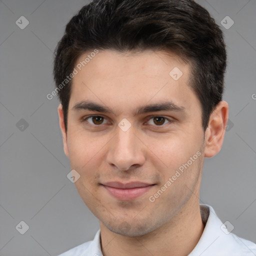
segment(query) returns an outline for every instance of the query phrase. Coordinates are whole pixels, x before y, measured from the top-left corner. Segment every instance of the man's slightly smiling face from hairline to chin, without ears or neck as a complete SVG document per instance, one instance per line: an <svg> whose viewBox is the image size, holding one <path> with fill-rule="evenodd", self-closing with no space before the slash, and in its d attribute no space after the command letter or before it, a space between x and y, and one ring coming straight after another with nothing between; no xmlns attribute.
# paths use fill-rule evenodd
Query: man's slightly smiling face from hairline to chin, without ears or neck
<svg viewBox="0 0 256 256"><path fill-rule="evenodd" d="M192 207L199 196L204 132L200 103L187 85L189 64L164 51L104 50L76 69L64 148L92 213L109 230L135 236ZM112 112L86 109L83 101ZM166 102L168 110L134 113ZM127 184L133 188L122 189Z"/></svg>

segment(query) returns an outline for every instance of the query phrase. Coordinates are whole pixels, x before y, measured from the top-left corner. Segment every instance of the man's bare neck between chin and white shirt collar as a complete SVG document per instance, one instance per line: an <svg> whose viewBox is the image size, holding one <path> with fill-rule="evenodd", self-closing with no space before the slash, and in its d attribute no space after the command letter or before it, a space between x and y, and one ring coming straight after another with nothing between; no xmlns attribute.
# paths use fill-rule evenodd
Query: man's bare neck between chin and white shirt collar
<svg viewBox="0 0 256 256"><path fill-rule="evenodd" d="M165 225L142 236L113 233L100 221L101 250L103 256L186 256L199 241L203 229L199 201L191 200Z"/></svg>

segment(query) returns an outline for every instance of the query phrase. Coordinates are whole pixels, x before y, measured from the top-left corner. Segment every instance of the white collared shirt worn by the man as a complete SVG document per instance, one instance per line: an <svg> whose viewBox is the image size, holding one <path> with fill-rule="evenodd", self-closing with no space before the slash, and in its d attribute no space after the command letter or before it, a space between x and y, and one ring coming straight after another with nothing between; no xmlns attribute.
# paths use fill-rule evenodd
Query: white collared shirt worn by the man
<svg viewBox="0 0 256 256"><path fill-rule="evenodd" d="M256 244L229 232L230 222L222 223L210 205L200 204L203 233L188 256L255 256ZM92 241L84 242L58 256L102 256L100 229Z"/></svg>

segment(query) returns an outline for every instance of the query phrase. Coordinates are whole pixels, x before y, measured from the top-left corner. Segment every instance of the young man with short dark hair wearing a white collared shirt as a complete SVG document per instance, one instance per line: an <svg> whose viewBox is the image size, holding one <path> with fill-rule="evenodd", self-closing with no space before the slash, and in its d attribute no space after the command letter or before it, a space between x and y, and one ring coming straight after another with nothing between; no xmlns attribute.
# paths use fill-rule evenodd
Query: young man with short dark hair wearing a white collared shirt
<svg viewBox="0 0 256 256"><path fill-rule="evenodd" d="M221 148L223 35L192 0L94 0L55 50L64 152L100 230L66 255L256 255L199 204Z"/></svg>

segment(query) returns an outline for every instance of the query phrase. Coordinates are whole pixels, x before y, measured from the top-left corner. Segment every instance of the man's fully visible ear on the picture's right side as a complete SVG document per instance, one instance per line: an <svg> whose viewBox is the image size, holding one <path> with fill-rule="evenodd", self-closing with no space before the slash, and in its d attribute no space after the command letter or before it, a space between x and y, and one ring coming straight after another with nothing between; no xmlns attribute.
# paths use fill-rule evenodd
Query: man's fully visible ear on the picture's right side
<svg viewBox="0 0 256 256"><path fill-rule="evenodd" d="M228 118L228 104L220 101L209 117L208 127L205 130L205 157L217 154L222 146Z"/></svg>

